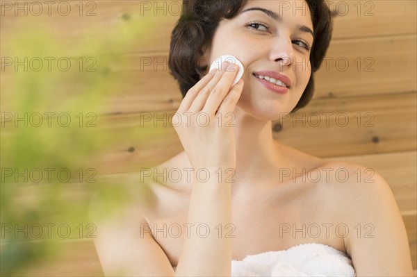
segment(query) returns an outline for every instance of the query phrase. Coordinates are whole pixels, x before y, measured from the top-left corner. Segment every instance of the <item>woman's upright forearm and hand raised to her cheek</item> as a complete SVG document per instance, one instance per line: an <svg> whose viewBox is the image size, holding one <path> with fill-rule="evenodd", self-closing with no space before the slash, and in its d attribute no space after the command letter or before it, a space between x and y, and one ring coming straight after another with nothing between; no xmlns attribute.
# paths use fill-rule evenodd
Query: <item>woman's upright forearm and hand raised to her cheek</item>
<svg viewBox="0 0 417 277"><path fill-rule="evenodd" d="M225 178L236 169L236 139L233 122L227 126L225 119L232 116L243 90L243 81L230 89L237 70L236 65L223 65L221 71L204 76L188 91L177 111L190 115L182 117L182 124L176 127L190 163L195 171L204 170L209 176L204 182L195 178L187 222L202 224L209 233L191 232L185 238L177 276L231 274L232 237L225 232L233 228L231 183ZM209 119L208 125L197 121L202 114Z"/></svg>

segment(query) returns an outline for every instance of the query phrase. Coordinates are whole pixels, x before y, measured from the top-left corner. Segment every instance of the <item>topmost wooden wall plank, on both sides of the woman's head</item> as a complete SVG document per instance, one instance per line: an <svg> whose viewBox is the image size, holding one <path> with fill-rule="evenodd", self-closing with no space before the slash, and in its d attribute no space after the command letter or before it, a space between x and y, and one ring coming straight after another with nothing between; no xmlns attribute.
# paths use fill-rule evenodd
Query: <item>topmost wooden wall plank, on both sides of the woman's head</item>
<svg viewBox="0 0 417 277"><path fill-rule="evenodd" d="M66 6L60 7L42 3L42 12L33 5L36 1L25 1L26 9L15 10L15 1L2 1L1 31L3 40L10 37L24 37L28 30L19 27L27 24L41 30L54 26L53 30L62 45L56 53L65 56L84 56L82 49L73 46L77 40L82 40L91 30L90 35L95 40L103 37L115 36L115 26L120 22L129 24L137 17L155 17L158 22L149 35L151 44L141 45L136 51L168 51L170 34L174 24L179 19L182 1L145 1L145 0L117 0L117 1L83 1L82 9L79 1L68 1L71 10L68 15ZM92 2L92 3L90 3ZM345 40L352 37L407 35L416 33L416 1L328 1L328 6L336 12L334 20L334 40ZM21 7L24 5L21 3ZM284 8L284 7L283 7ZM289 7L294 8L295 7ZM25 16L26 12L26 16ZM49 15L50 12L50 15ZM297 12L297 10L295 10ZM301 12L301 11L298 11ZM15 15L17 14L17 16ZM38 15L39 14L39 15ZM25 19L28 20L25 22ZM19 30L19 31L17 31ZM5 53L7 47L2 48ZM115 49L120 52L122 49ZM108 53L108 49L101 49Z"/></svg>

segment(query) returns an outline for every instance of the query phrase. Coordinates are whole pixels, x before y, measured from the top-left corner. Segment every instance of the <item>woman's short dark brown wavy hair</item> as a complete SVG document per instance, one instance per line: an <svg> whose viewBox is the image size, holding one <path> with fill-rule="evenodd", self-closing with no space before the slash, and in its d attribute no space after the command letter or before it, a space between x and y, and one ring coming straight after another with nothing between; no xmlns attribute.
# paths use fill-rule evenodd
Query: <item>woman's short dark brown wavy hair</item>
<svg viewBox="0 0 417 277"><path fill-rule="evenodd" d="M332 40L332 12L324 0L305 0L310 9L314 29L311 46L311 76L309 83L291 112L306 106L314 92L314 72L325 58L325 53ZM183 0L182 12L171 35L168 67L170 74L179 83L181 94L186 96L188 90L204 76L207 66L199 66L222 19L231 19L247 0Z"/></svg>

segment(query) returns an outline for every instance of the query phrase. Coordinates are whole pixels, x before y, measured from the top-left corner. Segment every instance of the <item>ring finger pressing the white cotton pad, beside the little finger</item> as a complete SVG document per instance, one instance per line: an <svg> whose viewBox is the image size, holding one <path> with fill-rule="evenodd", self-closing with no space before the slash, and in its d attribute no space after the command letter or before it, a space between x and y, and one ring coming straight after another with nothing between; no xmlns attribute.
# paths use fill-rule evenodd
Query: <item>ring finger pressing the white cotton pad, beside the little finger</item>
<svg viewBox="0 0 417 277"><path fill-rule="evenodd" d="M211 94L206 100L206 105L204 105L203 111L208 115L215 115L215 111L218 110L220 103L224 100L224 97L227 96L231 90L231 84L236 77L238 72L238 65L229 64L226 69L224 69L224 74L220 81L215 85Z"/></svg>

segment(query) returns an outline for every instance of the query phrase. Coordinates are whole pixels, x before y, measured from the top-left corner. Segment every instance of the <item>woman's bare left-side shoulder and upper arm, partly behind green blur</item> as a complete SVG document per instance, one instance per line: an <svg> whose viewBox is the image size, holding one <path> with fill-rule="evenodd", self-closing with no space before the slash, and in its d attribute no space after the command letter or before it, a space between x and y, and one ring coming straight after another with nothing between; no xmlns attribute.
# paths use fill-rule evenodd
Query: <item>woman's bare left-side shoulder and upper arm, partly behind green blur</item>
<svg viewBox="0 0 417 277"><path fill-rule="evenodd" d="M106 178L90 203L97 226L95 248L106 276L174 275L149 228L146 211L154 203L153 184L142 174Z"/></svg>

